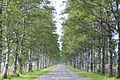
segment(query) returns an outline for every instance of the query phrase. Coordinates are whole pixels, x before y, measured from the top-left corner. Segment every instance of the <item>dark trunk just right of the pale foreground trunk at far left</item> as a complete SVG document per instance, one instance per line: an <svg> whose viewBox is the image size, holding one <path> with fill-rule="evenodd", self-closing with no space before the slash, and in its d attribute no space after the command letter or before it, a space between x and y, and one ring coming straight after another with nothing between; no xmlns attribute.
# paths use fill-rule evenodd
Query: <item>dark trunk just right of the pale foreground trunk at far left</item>
<svg viewBox="0 0 120 80"><path fill-rule="evenodd" d="M18 60L18 33L15 32L15 57L14 57L13 73L16 73L17 70L17 60Z"/></svg>

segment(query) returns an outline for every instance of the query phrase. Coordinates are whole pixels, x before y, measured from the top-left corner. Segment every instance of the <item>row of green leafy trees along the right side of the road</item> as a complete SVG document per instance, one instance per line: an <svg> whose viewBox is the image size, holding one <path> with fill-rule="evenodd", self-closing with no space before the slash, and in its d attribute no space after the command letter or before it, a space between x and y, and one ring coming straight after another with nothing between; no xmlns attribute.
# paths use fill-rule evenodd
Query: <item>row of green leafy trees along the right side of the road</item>
<svg viewBox="0 0 120 80"><path fill-rule="evenodd" d="M66 63L120 78L119 6L120 0L68 1L62 43Z"/></svg>

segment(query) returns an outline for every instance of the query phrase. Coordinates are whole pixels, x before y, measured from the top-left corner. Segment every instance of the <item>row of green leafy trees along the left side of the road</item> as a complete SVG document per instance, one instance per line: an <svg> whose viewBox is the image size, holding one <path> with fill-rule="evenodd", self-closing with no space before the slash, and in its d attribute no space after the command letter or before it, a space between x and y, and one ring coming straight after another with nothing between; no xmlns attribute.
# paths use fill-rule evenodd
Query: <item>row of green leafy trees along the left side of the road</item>
<svg viewBox="0 0 120 80"><path fill-rule="evenodd" d="M57 63L60 55L53 10L46 0L0 0L0 68L4 68L4 78L11 69L17 74ZM33 63L37 65L34 69Z"/></svg>

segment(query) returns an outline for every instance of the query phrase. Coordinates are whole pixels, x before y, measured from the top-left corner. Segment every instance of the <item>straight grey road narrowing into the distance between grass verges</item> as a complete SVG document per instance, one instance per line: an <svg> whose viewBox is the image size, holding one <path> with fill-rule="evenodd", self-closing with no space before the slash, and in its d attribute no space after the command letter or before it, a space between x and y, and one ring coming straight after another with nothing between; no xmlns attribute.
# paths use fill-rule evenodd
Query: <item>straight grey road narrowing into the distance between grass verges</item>
<svg viewBox="0 0 120 80"><path fill-rule="evenodd" d="M40 75L33 80L89 80L68 69L64 65L58 65L52 71Z"/></svg>

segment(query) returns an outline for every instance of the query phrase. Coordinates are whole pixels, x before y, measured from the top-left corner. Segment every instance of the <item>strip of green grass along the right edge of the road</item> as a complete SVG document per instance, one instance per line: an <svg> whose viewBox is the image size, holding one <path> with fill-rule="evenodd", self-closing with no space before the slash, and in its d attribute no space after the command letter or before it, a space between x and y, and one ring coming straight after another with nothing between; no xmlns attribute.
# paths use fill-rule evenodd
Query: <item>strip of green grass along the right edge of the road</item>
<svg viewBox="0 0 120 80"><path fill-rule="evenodd" d="M110 78L108 76L100 75L100 74L93 73L93 72L81 71L79 69L75 69L70 66L68 66L68 68L77 72L78 74L80 74L80 76L88 78L89 80L120 80L120 79Z"/></svg>

